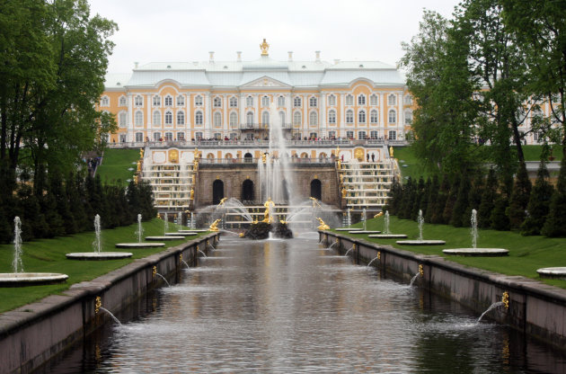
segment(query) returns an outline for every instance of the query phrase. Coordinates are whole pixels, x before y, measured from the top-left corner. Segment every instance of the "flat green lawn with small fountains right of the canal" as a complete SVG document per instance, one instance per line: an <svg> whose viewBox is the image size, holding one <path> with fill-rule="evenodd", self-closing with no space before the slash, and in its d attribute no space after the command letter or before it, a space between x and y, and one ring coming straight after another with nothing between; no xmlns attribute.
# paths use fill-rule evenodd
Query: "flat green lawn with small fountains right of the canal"
<svg viewBox="0 0 566 374"><path fill-rule="evenodd" d="M362 227L361 223L352 227ZM419 237L419 226L417 222L408 219L390 218L390 230L393 234L406 234L410 239ZM384 218L372 218L367 220L368 230L383 230ZM469 248L472 246L472 238L469 227L451 227L447 225L425 224L423 227L424 239L446 240L446 245L397 245L399 239L370 238L367 235L351 235L362 237L370 242L383 245L393 245L417 254L437 254L455 263L461 263L474 268L484 269L491 272L499 272L507 275L522 275L526 278L541 280L544 283L566 289L566 280L541 279L536 269L554 266L566 266L566 238L548 238L544 236L521 236L509 231L480 230L478 247L505 248L509 249L506 257L461 257L449 256L442 253L448 248Z"/></svg>

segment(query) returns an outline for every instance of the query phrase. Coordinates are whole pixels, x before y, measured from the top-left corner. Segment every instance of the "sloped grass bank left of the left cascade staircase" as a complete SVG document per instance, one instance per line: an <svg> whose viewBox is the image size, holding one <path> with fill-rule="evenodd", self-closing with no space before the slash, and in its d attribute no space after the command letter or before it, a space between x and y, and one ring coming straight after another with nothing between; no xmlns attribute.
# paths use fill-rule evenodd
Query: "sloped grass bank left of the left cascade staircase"
<svg viewBox="0 0 566 374"><path fill-rule="evenodd" d="M136 173L136 162L139 159L139 149L105 149L102 165L98 167L97 174L101 176L102 183L118 183L126 185L128 179ZM129 168L133 170L128 170Z"/></svg>

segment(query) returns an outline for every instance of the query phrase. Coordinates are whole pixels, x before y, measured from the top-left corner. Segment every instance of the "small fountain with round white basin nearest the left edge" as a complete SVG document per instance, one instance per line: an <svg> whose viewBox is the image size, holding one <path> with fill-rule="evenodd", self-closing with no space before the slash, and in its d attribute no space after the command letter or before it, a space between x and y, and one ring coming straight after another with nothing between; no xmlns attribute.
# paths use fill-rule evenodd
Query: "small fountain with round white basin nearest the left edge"
<svg viewBox="0 0 566 374"><path fill-rule="evenodd" d="M0 287L22 287L39 284L62 283L66 274L53 272L23 272L22 263L22 221L19 217L13 218L13 272L0 273Z"/></svg>

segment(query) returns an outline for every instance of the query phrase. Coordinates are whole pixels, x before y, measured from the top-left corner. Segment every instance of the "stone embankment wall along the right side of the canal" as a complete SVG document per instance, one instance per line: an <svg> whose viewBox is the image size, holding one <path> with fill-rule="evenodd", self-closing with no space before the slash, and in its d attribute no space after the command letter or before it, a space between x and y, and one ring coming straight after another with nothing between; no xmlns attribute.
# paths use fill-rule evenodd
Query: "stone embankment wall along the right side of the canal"
<svg viewBox="0 0 566 374"><path fill-rule="evenodd" d="M390 245L370 243L351 236L321 232L321 240L340 254L350 252L356 263L369 263L385 274L405 281L420 272L415 284L470 307L478 316L509 293L509 309L489 317L509 324L546 343L566 349L566 289L521 276L509 276L465 267L437 255L413 254Z"/></svg>

